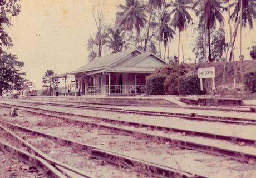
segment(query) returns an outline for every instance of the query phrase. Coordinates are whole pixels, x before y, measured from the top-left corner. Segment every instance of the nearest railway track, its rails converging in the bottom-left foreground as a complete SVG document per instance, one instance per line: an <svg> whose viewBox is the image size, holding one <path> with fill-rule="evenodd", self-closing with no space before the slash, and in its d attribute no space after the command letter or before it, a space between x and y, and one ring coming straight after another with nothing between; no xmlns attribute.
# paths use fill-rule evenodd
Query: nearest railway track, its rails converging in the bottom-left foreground
<svg viewBox="0 0 256 178"><path fill-rule="evenodd" d="M30 128L21 127L18 125L14 125L12 123L1 121L3 125L6 125L9 128L12 128L14 130L21 130L24 132L29 132L32 135L40 135L43 137L46 137L51 140L55 140L56 142L62 142L65 143L65 145L73 146L73 147L81 147L83 151L90 152L91 157L96 159L101 159L102 161L109 162L110 164L114 165L121 165L121 166L129 166L129 167L135 167L137 170L140 170L145 173L145 175L151 175L156 177L196 177L196 178L204 178L205 176L195 175L190 172L185 172L177 169L173 169L171 167L166 167L163 165L155 164L153 162L147 162L144 160L138 160L134 157L122 155L117 152L113 152L111 150L101 149L100 147L95 147L89 144L83 144L81 142L76 142L70 139L65 139L63 137L54 136L51 134L43 133L40 131L32 130ZM36 156L31 155L27 152L24 152L20 149L17 149L13 146L10 146L8 144L4 144L3 142L0 142L0 145L4 147L4 149L11 149L15 150L16 152L19 152L19 154L22 154L23 156L27 156L27 159L37 159L41 162L41 164L47 169L51 171L51 174L53 176L57 177L93 177L93 176L87 176L86 174L82 173L80 170L75 170L70 166L67 166L65 164L62 164L56 160L52 160L48 158L47 155L43 154L40 150L36 149L34 146L29 144L27 141L22 139L21 137L17 136L15 133L9 131L7 128L0 125L2 130L8 132L10 135L12 135L15 139L22 141L24 145L26 145L29 149L31 149L33 152L36 153ZM52 166L54 165L54 166ZM57 166L57 168L56 168ZM61 171L59 171L61 170ZM67 171L68 170L68 171ZM70 172L71 171L71 172Z"/></svg>

